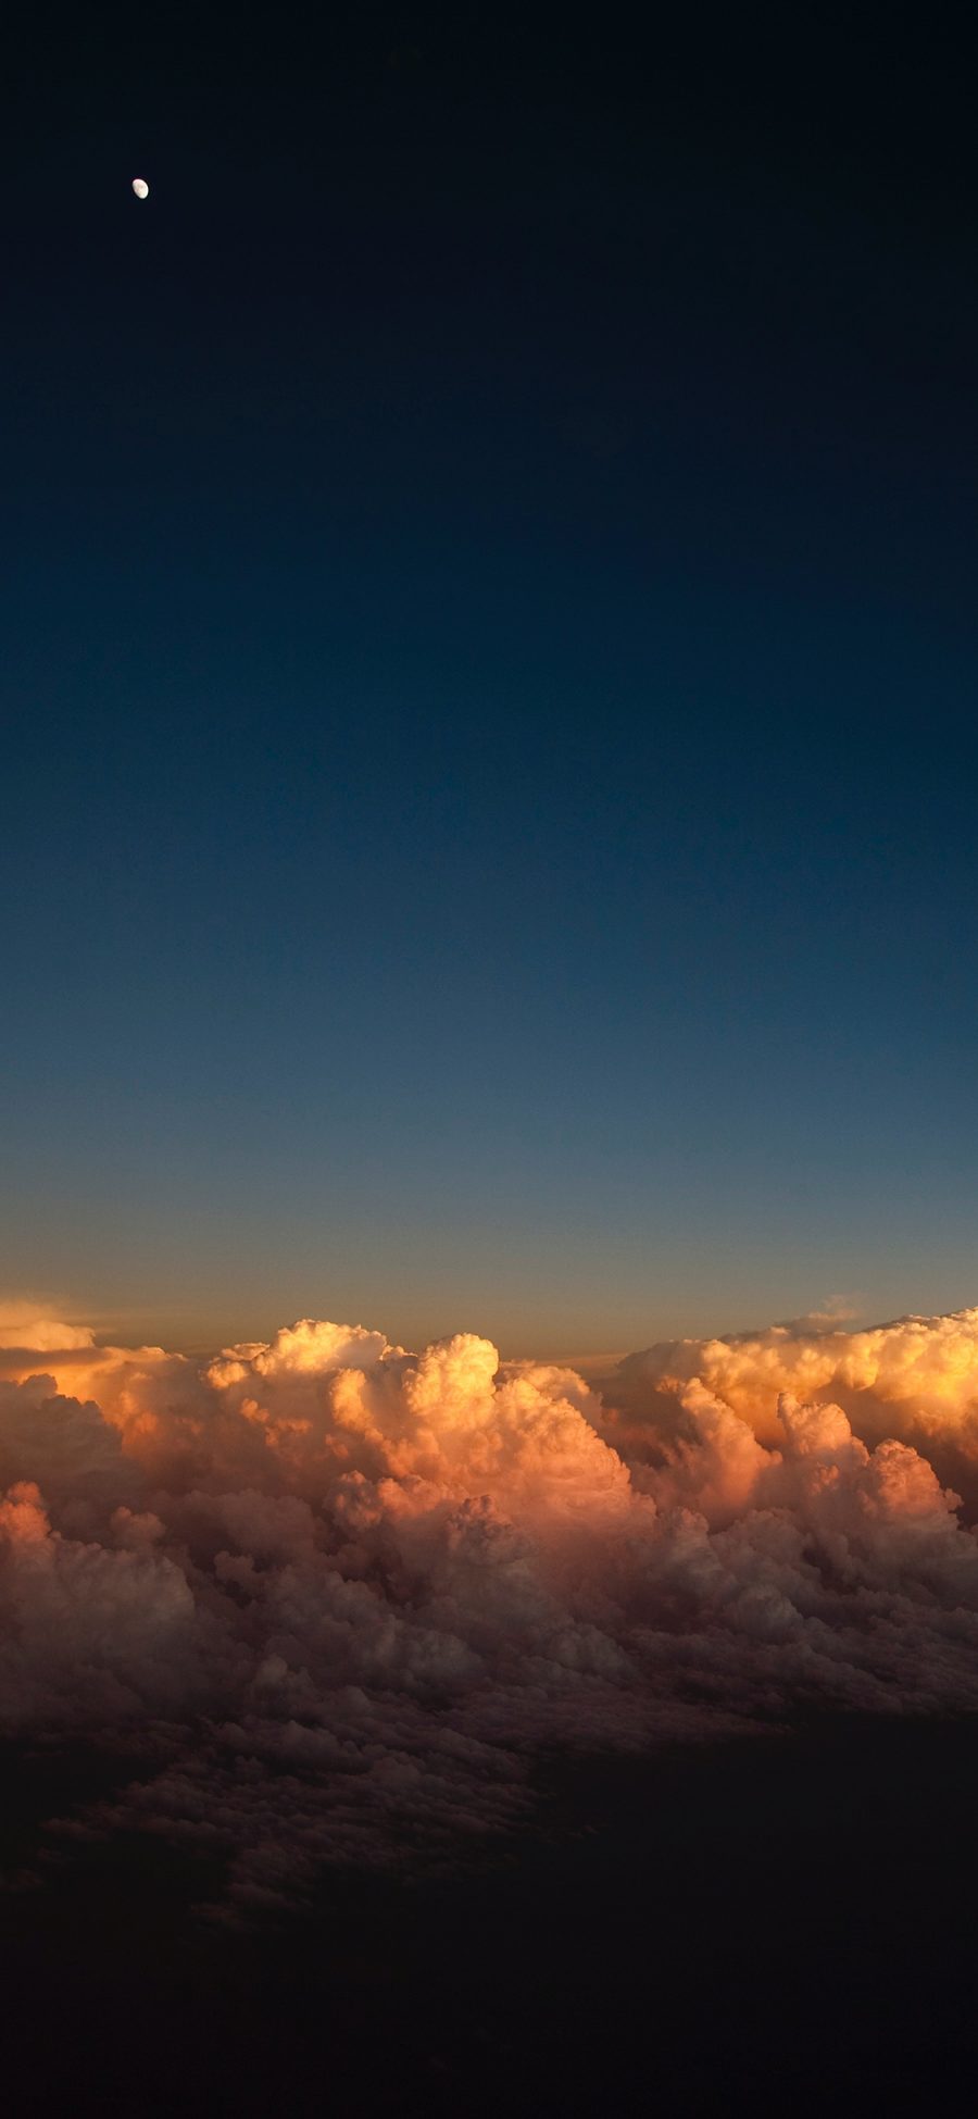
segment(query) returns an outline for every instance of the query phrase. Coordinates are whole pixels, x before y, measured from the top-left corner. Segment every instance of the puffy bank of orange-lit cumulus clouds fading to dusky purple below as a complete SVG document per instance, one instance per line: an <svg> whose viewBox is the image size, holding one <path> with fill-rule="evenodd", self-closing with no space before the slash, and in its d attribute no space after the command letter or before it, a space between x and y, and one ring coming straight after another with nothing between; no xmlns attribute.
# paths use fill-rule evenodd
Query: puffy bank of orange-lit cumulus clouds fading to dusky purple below
<svg viewBox="0 0 978 2119"><path fill-rule="evenodd" d="M0 1727L129 1746L85 1831L222 1850L231 1907L455 1860L544 1748L978 1708L978 1312L601 1392L468 1333L191 1363L6 1316Z"/></svg>

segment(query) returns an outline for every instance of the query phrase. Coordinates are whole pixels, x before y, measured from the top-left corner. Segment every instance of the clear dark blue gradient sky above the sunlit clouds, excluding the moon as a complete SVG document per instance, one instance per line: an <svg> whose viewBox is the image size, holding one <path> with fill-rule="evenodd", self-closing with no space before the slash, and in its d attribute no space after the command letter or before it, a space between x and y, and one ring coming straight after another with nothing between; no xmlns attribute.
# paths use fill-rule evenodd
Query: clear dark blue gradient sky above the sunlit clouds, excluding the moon
<svg viewBox="0 0 978 2119"><path fill-rule="evenodd" d="M0 1284L106 1331L976 1297L972 74L512 21L15 66Z"/></svg>

